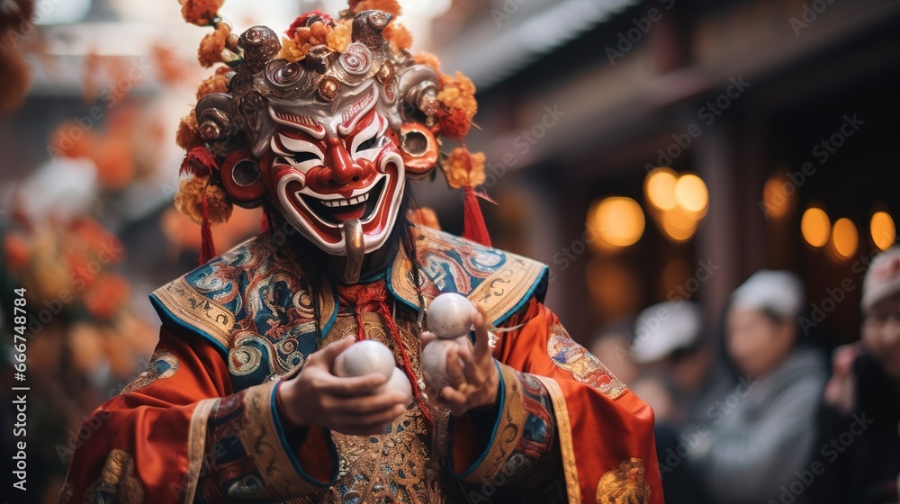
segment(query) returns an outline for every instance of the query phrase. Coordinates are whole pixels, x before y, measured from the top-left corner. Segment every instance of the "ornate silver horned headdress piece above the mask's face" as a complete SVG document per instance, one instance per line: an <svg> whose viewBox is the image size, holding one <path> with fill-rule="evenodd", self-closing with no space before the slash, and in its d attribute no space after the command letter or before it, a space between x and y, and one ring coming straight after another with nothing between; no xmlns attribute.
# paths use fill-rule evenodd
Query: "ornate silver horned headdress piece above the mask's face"
<svg viewBox="0 0 900 504"><path fill-rule="evenodd" d="M381 11L356 14L346 50L319 45L295 62L276 57L281 44L275 31L245 31L229 93L207 94L197 103L202 138L220 157L244 146L261 157L278 125L318 124L319 138L346 135L343 120L360 107L375 107L392 130L404 122L433 126L439 77L408 52L392 51L383 37L391 19Z"/></svg>

